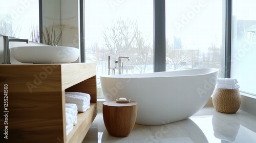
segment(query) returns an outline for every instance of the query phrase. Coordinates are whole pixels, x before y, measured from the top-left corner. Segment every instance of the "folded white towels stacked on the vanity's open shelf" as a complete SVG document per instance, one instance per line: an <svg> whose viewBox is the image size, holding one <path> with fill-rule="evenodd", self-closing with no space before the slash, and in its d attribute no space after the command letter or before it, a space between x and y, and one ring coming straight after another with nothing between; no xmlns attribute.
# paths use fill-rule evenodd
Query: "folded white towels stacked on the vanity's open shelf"
<svg viewBox="0 0 256 143"><path fill-rule="evenodd" d="M91 96L82 92L66 92L66 133L72 131L77 124L77 113L85 112L90 108Z"/></svg>

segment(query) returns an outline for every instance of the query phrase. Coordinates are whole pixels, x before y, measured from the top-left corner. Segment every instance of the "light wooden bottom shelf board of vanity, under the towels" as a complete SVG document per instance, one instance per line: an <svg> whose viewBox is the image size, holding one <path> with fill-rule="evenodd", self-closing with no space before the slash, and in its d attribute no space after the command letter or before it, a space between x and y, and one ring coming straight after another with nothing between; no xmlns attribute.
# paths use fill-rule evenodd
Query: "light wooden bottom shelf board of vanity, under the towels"
<svg viewBox="0 0 256 143"><path fill-rule="evenodd" d="M67 142L82 142L97 115L97 103L91 103L90 109L77 114L77 124L67 136ZM66 142L66 141L65 141Z"/></svg>

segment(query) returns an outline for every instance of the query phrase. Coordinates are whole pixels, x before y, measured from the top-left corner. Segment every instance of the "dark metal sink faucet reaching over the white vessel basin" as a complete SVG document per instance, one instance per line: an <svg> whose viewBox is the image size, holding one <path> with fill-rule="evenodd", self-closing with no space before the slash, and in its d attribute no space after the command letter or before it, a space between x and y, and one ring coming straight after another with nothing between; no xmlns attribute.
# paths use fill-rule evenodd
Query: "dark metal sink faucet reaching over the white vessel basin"
<svg viewBox="0 0 256 143"><path fill-rule="evenodd" d="M10 49L9 42L26 42L29 43L28 39L10 39L9 36L4 36L4 62L2 64L10 64Z"/></svg>

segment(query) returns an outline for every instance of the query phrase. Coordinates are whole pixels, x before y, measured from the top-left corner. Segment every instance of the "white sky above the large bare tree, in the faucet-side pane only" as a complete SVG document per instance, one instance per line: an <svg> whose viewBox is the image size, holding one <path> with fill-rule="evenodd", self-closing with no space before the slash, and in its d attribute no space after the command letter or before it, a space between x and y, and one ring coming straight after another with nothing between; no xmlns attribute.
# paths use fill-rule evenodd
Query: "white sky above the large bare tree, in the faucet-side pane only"
<svg viewBox="0 0 256 143"><path fill-rule="evenodd" d="M102 42L104 27L110 27L112 19L120 17L137 20L140 31L153 40L153 0L86 1L86 40Z"/></svg>

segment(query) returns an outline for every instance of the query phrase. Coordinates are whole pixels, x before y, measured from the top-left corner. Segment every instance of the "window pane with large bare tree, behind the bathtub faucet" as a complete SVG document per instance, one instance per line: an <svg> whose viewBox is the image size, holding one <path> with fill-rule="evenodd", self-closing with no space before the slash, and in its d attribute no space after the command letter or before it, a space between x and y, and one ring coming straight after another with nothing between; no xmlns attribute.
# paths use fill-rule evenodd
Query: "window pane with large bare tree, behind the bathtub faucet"
<svg viewBox="0 0 256 143"><path fill-rule="evenodd" d="M111 67L119 56L130 57L122 59L123 74L153 72L153 0L86 1L85 22L86 62L97 63L99 98L99 76L108 74L108 56Z"/></svg>

